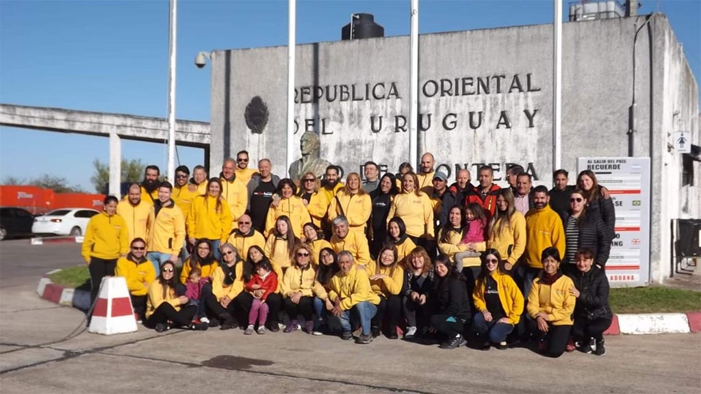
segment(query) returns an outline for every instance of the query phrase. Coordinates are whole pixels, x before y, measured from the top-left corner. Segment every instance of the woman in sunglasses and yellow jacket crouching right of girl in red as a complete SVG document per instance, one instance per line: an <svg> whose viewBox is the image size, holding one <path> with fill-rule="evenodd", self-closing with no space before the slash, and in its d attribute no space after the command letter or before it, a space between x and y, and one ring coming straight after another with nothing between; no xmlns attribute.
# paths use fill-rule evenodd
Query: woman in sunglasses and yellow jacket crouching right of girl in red
<svg viewBox="0 0 701 394"><path fill-rule="evenodd" d="M309 245L299 244L294 248L294 264L285 271L280 283L280 292L285 297L285 312L290 323L284 332L298 329L297 315L304 318L304 331L312 334L314 331L314 296L325 300L327 292L316 279L316 272L311 264L312 249Z"/></svg>

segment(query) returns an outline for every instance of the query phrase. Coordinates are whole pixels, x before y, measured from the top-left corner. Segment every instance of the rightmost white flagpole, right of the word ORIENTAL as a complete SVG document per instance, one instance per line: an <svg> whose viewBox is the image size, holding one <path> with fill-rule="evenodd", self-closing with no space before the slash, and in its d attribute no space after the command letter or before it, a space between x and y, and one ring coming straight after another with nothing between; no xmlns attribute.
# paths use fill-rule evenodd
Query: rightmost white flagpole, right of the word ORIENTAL
<svg viewBox="0 0 701 394"><path fill-rule="evenodd" d="M552 170L562 168L562 0L553 0Z"/></svg>

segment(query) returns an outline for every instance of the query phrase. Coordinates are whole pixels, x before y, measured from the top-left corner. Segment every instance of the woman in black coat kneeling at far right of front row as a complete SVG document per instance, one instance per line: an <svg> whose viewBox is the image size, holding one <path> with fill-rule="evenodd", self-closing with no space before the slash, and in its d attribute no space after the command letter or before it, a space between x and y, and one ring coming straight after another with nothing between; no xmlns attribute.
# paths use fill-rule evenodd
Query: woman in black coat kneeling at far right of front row
<svg viewBox="0 0 701 394"><path fill-rule="evenodd" d="M604 271L594 265L592 250L580 249L575 261L577 269L569 273L575 285L570 292L577 299L572 337L580 351L604 355L604 331L613 319L608 306L608 279Z"/></svg>

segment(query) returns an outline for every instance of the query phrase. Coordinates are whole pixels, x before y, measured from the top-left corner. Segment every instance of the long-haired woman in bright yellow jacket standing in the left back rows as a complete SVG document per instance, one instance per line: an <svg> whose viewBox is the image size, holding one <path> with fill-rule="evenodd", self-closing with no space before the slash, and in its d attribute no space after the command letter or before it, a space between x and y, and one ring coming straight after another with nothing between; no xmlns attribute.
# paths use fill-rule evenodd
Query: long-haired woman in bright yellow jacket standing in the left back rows
<svg viewBox="0 0 701 394"><path fill-rule="evenodd" d="M211 178L207 182L207 195L197 196L187 215L188 240L191 245L196 239L205 238L212 244L215 259L222 258L219 245L226 242L231 233L231 212L222 198L222 181Z"/></svg>

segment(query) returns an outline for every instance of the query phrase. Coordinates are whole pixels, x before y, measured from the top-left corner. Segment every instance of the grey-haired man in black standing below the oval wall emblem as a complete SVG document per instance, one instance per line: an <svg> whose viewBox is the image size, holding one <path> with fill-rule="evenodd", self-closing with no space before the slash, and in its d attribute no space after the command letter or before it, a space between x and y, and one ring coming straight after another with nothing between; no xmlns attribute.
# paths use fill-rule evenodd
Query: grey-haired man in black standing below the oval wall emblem
<svg viewBox="0 0 701 394"><path fill-rule="evenodd" d="M253 228L261 233L265 232L268 208L273 201L275 189L278 189L278 183L280 177L273 174L273 164L267 158L261 158L258 161L258 172L253 174L247 186L247 210L251 215ZM245 254L242 256L245 257Z"/></svg>

